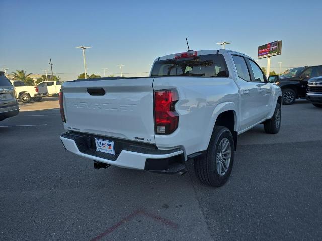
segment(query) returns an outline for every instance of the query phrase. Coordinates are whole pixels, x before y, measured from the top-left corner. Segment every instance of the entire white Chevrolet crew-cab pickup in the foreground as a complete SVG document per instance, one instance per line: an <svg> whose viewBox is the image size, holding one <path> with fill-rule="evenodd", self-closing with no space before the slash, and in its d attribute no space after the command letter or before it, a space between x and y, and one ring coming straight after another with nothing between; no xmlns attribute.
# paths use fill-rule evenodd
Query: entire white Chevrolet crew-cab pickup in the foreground
<svg viewBox="0 0 322 241"><path fill-rule="evenodd" d="M110 165L183 173L194 159L199 180L223 185L237 135L281 125L281 89L250 57L201 50L157 58L149 77L65 82L60 92L64 148Z"/></svg>

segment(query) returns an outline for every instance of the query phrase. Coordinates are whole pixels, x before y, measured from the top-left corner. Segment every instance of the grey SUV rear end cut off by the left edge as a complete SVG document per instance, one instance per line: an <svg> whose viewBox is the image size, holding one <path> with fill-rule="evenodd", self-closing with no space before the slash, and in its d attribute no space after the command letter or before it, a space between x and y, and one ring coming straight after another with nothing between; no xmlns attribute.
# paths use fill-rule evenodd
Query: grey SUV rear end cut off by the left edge
<svg viewBox="0 0 322 241"><path fill-rule="evenodd" d="M19 104L15 96L14 87L4 72L0 71L0 121L19 113Z"/></svg>

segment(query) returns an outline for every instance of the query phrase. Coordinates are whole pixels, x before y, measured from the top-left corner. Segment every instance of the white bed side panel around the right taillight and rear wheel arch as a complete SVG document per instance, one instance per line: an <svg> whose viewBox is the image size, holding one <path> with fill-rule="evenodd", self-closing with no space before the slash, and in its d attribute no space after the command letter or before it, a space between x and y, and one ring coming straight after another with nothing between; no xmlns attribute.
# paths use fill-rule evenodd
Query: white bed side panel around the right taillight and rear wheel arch
<svg viewBox="0 0 322 241"><path fill-rule="evenodd" d="M181 147L186 157L208 148L220 113L237 113L239 107L239 91L232 78L156 77L153 89L177 89L179 94L178 129L170 135L155 135L155 143L160 149Z"/></svg>

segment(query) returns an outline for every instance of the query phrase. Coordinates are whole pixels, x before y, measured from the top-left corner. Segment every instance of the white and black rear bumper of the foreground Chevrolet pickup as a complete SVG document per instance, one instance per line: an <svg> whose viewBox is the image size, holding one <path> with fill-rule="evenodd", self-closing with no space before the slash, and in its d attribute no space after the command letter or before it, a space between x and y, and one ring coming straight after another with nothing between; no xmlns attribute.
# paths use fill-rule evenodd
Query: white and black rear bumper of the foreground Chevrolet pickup
<svg viewBox="0 0 322 241"><path fill-rule="evenodd" d="M79 156L92 159L97 162L107 163L122 168L147 170L158 173L178 173L185 169L183 150L158 150L146 146L127 145L116 155L97 152L88 140L89 136L81 134L62 133L60 140L64 148ZM91 137L94 138L94 137ZM111 138L105 137L105 140ZM118 140L119 145L122 141ZM121 143L121 144L120 144ZM92 145L92 146L91 146Z"/></svg>

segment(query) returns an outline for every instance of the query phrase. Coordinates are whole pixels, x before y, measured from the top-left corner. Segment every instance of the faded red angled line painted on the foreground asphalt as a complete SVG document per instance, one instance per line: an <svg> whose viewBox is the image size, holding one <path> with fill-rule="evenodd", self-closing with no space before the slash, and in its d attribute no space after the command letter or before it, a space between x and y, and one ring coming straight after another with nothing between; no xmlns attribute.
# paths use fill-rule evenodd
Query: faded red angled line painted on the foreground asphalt
<svg viewBox="0 0 322 241"><path fill-rule="evenodd" d="M164 225L170 226L172 228L178 228L178 224L174 223L166 218L154 215L152 213L149 213L147 211L145 211L144 209L138 209L134 212L132 212L130 215L122 218L118 223L114 224L113 226L109 227L108 229L106 229L104 232L102 232L101 234L99 234L98 236L94 237L91 239L91 241L98 241L100 239L102 239L103 237L105 237L106 235L108 235L109 233L115 231L119 226L123 225L124 223L130 221L130 219L132 219L135 216L138 215L144 215L146 217L150 217L152 219L154 219L155 221L158 221L160 223L163 223Z"/></svg>

